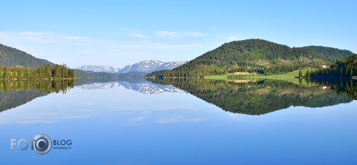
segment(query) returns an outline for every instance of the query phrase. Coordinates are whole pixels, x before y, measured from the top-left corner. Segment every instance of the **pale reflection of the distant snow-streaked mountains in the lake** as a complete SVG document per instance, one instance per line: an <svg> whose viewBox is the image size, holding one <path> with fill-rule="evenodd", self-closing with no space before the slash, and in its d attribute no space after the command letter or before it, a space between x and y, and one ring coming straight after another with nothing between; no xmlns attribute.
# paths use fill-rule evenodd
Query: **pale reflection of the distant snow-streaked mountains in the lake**
<svg viewBox="0 0 357 165"><path fill-rule="evenodd" d="M174 92L174 93L185 92L181 89L173 87L172 85L158 85L145 80L143 80L143 82L126 82L126 81L93 82L91 81L78 86L78 88L85 89L85 90L92 90L92 89L113 88L116 86L123 86L126 89L131 89L144 94L158 94L162 92Z"/></svg>

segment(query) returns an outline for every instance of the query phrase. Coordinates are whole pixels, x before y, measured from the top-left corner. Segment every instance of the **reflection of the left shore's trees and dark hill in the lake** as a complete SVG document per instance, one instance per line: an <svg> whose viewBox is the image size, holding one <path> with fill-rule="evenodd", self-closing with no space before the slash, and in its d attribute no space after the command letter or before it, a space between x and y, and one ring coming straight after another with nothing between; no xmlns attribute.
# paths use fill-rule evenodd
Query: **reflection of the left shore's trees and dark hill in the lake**
<svg viewBox="0 0 357 165"><path fill-rule="evenodd" d="M49 93L66 93L74 80L0 81L0 112L23 105Z"/></svg>

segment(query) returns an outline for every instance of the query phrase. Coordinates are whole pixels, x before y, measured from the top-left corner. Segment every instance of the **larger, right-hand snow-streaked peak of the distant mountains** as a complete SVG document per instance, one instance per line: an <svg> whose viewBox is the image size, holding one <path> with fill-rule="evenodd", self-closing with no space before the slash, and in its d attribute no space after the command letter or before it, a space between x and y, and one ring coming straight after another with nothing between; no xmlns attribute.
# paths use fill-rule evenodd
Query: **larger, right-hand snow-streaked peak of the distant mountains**
<svg viewBox="0 0 357 165"><path fill-rule="evenodd" d="M186 61L173 61L173 62L162 62L156 60L146 60L135 63L133 65L127 65L123 69L119 70L117 73L128 73L128 72L144 72L150 73L156 70L172 69L174 67L185 64Z"/></svg>

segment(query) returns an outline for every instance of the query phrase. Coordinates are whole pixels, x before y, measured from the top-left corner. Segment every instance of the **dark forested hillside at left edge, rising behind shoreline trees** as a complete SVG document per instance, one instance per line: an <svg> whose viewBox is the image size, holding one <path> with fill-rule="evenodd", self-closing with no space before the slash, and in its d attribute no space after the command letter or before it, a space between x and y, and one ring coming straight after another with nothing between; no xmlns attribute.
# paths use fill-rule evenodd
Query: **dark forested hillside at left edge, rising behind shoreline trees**
<svg viewBox="0 0 357 165"><path fill-rule="evenodd" d="M0 66L19 65L24 67L29 66L31 68L37 68L46 64L53 65L52 62L47 60L36 58L24 51L0 44Z"/></svg>

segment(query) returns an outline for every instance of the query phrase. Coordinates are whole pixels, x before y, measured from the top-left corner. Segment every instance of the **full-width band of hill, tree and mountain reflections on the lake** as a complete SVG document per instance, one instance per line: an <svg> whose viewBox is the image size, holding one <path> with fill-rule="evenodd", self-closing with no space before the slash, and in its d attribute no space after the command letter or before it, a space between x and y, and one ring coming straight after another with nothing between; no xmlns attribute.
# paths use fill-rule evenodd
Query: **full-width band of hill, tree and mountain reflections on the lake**
<svg viewBox="0 0 357 165"><path fill-rule="evenodd" d="M150 82L151 81L151 82ZM224 111L262 115L291 106L326 107L357 100L356 80L305 80L297 85L279 80L206 80L206 79L82 79L62 81L0 82L0 112L46 96L65 94L74 84L83 90L124 87L143 94L188 92Z"/></svg>

